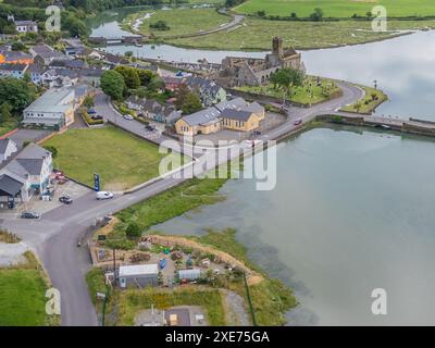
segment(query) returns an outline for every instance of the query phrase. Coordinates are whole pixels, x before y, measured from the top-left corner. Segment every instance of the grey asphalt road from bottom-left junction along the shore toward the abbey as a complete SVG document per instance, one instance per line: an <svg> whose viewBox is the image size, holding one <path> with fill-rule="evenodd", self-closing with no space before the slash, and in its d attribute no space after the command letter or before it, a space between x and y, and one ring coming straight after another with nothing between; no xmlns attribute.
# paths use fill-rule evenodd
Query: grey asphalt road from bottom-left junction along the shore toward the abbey
<svg viewBox="0 0 435 348"><path fill-rule="evenodd" d="M358 87L346 83L338 84L344 91L341 97L309 109L291 107L289 120L277 128L261 135L260 139L276 139L299 127L294 125L295 119L301 119L306 123L316 115L333 113L339 107L355 102L363 96L363 91ZM113 117L116 124L132 128L137 128L139 125L142 127L141 124L136 124L136 121L124 120L111 109L109 101L102 96L97 98L97 108L99 112L103 112L104 117ZM240 150L246 146L246 144L238 145ZM195 174L203 173L226 162L226 159L217 162L213 153L203 156L207 157L207 161L196 162L192 166ZM187 170L182 170L181 177L186 176L186 173ZM186 179L166 177L133 194L115 195L113 199L105 201L97 201L95 194L89 192L71 206L60 207L44 214L38 221L8 217L0 221L1 227L16 233L40 256L53 286L61 293L62 325L98 325L84 278L84 274L89 268L89 256L86 254L85 247L77 248L78 238L96 222L96 219L123 210Z"/></svg>

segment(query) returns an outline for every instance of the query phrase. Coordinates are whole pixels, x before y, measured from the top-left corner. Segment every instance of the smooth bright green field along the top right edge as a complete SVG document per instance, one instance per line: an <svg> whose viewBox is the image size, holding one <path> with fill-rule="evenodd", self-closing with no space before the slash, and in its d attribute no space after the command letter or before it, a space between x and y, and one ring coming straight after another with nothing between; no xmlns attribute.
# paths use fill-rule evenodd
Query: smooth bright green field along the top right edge
<svg viewBox="0 0 435 348"><path fill-rule="evenodd" d="M235 8L237 12L254 14L265 11L266 15L289 16L295 12L299 17L308 17L315 8L325 17L350 17L355 13L365 16L374 5L387 9L387 16L431 16L435 15L433 0L248 0Z"/></svg>

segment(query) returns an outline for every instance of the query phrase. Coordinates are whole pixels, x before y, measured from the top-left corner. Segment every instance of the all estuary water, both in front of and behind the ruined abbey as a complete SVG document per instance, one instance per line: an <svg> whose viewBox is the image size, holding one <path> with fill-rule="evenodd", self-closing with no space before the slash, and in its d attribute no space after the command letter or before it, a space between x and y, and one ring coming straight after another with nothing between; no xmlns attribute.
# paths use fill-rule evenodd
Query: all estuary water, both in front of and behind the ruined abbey
<svg viewBox="0 0 435 348"><path fill-rule="evenodd" d="M303 52L308 73L369 86L389 101L376 113L435 121L435 33ZM122 52L128 47L110 47ZM148 57L219 62L172 46ZM151 53L150 53L151 52ZM140 53L139 53L140 54ZM152 55L154 54L154 55ZM295 289L290 325L435 325L435 142L357 127L324 127L279 144L277 185L229 181L227 199L154 226L171 234L235 227L249 256ZM374 315L372 290L387 294Z"/></svg>

